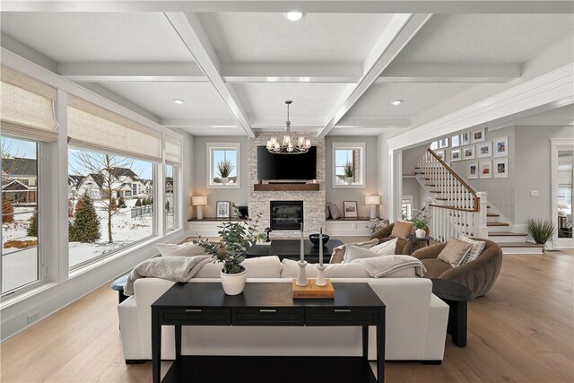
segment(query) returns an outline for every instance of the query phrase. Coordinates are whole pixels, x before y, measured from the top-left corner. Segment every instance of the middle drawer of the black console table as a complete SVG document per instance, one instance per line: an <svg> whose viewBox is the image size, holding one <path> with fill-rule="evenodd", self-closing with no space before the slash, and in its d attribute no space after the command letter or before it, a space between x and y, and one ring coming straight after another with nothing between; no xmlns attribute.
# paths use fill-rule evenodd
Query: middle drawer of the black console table
<svg viewBox="0 0 574 383"><path fill-rule="evenodd" d="M234 309L234 326L303 326L304 309Z"/></svg>

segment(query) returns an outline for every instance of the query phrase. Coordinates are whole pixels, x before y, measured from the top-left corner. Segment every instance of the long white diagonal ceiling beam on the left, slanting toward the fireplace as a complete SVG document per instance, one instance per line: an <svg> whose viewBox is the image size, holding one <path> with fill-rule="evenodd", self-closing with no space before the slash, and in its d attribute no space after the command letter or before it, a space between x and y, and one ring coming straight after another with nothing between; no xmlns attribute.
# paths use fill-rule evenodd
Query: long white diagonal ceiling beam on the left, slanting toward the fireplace
<svg viewBox="0 0 574 383"><path fill-rule="evenodd" d="M213 84L215 91L222 97L223 102L230 109L231 114L239 126L245 130L249 137L255 137L255 133L249 126L247 114L245 113L239 97L235 91L228 87L223 81L221 74L221 63L215 54L212 43L207 37L203 25L197 18L196 13L164 13L179 38L186 45L189 53L196 60L209 81Z"/></svg>

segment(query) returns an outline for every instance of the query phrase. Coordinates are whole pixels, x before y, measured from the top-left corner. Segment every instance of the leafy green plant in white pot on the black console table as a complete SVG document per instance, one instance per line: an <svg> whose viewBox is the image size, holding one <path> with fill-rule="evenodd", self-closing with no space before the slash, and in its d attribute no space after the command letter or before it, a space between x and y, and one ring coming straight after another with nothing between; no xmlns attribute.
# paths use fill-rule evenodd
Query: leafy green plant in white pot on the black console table
<svg viewBox="0 0 574 383"><path fill-rule="evenodd" d="M213 262L221 262L222 286L227 295L238 295L243 292L247 279L246 268L241 265L248 255L247 246L256 240L257 222L239 220L239 209L233 204L233 217L235 220L222 222L218 225L221 243L213 244L206 239L198 239L196 244L205 249L205 252L213 258Z"/></svg>

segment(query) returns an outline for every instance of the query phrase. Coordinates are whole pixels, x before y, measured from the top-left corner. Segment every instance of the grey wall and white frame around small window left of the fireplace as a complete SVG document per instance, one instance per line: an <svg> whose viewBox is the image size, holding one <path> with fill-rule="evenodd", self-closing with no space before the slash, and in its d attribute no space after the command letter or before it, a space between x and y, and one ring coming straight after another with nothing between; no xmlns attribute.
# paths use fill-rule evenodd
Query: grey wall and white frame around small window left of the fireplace
<svg viewBox="0 0 574 383"><path fill-rule="evenodd" d="M240 187L239 188L208 188L207 187L207 143L240 143ZM204 217L215 216L217 201L230 201L238 206L248 205L248 138L239 136L196 136L194 137L195 152L190 161L194 171L194 196L207 196L207 206L204 206ZM196 217L196 209L193 216Z"/></svg>

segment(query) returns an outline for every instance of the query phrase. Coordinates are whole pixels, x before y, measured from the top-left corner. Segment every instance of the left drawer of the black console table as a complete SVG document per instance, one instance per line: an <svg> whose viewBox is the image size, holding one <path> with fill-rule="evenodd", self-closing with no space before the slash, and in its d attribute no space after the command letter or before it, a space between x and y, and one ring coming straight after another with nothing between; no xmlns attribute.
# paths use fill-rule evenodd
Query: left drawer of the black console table
<svg viewBox="0 0 574 383"><path fill-rule="evenodd" d="M163 323L230 326L230 309L163 309Z"/></svg>

